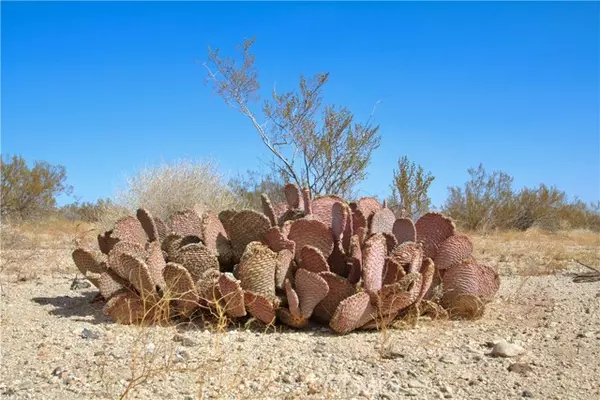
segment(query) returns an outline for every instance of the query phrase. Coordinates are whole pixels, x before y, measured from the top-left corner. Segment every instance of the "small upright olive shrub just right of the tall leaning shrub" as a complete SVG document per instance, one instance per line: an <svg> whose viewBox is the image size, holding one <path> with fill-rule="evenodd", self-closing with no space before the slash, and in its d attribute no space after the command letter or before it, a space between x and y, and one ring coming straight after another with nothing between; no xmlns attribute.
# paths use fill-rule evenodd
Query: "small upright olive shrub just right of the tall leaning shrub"
<svg viewBox="0 0 600 400"><path fill-rule="evenodd" d="M425 172L423 167L409 161L407 156L401 157L390 185L392 195L388 198L388 207L397 216L406 213L406 216L418 219L431 207L427 191L434 179L430 172Z"/></svg>

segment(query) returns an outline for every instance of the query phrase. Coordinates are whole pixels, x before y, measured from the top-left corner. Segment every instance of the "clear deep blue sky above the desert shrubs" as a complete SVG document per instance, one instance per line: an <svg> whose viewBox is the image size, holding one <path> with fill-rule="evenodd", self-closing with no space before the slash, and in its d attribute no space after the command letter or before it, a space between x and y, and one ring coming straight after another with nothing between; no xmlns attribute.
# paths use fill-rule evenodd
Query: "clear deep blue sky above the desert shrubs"
<svg viewBox="0 0 600 400"><path fill-rule="evenodd" d="M479 163L516 188L600 198L598 2L1 7L2 153L64 165L84 201L181 157L212 157L226 176L259 169L258 135L196 62L251 36L264 93L328 71L326 102L364 120L381 101L361 195L387 196L408 155L435 175L436 206Z"/></svg>

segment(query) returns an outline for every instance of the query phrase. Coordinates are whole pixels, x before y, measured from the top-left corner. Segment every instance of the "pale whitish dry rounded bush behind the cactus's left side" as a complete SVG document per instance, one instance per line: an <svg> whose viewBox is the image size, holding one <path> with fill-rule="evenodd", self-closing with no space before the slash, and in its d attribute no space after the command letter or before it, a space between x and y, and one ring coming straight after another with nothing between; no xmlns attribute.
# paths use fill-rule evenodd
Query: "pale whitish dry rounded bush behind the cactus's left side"
<svg viewBox="0 0 600 400"><path fill-rule="evenodd" d="M140 207L167 219L185 208L202 213L244 206L224 182L216 163L181 159L142 168L128 178L125 187L105 205L100 225L110 227L118 218L131 215Z"/></svg>

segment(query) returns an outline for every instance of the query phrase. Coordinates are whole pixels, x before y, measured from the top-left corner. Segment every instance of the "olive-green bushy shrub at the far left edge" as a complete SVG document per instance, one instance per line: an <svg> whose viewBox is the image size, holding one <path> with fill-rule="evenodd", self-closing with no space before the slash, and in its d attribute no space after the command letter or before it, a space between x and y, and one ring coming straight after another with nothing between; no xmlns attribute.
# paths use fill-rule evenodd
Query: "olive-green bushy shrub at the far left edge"
<svg viewBox="0 0 600 400"><path fill-rule="evenodd" d="M3 220L24 220L52 211L56 207L56 196L72 192L72 187L66 184L67 172L62 165L36 161L30 168L22 156L3 155L1 166Z"/></svg>

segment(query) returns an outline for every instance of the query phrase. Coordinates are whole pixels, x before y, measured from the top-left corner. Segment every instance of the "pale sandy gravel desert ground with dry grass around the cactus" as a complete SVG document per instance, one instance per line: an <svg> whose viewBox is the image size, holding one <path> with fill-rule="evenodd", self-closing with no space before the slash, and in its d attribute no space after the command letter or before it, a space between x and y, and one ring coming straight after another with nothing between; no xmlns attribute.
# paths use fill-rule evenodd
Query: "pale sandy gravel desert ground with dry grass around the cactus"
<svg viewBox="0 0 600 400"><path fill-rule="evenodd" d="M600 265L598 233L473 234L502 280L483 318L343 336L117 325L93 286L73 284L71 251L93 237L85 224L3 227L2 398L600 399L600 282L573 282L577 261Z"/></svg>

